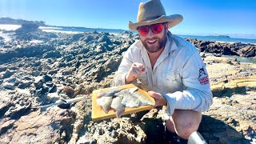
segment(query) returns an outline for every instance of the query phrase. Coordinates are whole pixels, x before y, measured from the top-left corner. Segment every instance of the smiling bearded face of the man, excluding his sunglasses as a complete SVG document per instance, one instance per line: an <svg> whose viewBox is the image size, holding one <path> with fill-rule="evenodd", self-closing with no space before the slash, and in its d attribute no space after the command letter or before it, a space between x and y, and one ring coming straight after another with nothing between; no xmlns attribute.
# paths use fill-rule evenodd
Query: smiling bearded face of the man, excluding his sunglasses
<svg viewBox="0 0 256 144"><path fill-rule="evenodd" d="M162 31L158 34L154 34L151 29L145 36L139 34L142 45L149 53L158 52L159 50L162 50L162 48L164 48L164 46L166 45L168 32L166 26L167 24L164 25Z"/></svg>

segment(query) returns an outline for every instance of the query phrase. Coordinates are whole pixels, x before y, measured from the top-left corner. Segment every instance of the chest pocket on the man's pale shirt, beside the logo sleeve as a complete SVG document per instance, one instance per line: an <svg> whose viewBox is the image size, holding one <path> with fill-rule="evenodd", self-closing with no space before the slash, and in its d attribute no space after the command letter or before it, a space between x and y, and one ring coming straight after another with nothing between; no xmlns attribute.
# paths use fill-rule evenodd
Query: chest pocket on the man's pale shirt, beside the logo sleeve
<svg viewBox="0 0 256 144"><path fill-rule="evenodd" d="M184 90L184 85L182 83L182 77L178 71L167 71L166 87L168 87L170 92Z"/></svg>

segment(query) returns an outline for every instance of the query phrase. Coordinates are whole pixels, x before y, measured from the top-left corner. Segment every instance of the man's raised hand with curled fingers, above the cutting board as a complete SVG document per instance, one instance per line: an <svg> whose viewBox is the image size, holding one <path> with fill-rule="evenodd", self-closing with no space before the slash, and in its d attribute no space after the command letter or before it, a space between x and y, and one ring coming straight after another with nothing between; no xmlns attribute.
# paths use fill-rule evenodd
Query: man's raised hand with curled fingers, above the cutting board
<svg viewBox="0 0 256 144"><path fill-rule="evenodd" d="M134 62L126 74L126 84L133 82L144 71L145 67L141 63Z"/></svg>

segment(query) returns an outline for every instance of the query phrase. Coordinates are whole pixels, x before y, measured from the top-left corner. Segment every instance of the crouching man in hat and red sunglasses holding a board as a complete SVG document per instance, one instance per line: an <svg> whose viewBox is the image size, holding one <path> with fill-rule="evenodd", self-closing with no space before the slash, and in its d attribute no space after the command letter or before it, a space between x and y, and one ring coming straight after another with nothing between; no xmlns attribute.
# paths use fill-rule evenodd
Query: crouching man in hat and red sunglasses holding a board
<svg viewBox="0 0 256 144"><path fill-rule="evenodd" d="M212 93L205 64L195 46L171 34L168 29L182 22L182 16L166 16L160 0L140 3L137 23L140 40L126 51L114 82L141 82L149 87L155 106L167 106L171 116L166 129L188 139L198 130L202 111L209 110Z"/></svg>

